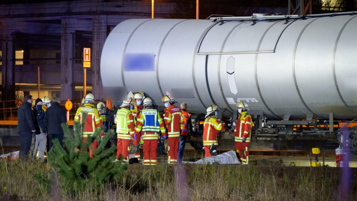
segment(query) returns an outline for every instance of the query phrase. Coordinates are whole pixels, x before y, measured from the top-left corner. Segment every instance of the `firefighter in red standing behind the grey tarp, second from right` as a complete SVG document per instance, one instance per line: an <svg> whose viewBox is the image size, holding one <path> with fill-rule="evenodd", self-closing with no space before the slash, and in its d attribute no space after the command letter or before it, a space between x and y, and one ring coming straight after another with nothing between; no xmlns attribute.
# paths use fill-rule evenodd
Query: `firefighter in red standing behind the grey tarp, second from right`
<svg viewBox="0 0 357 201"><path fill-rule="evenodd" d="M206 110L206 119L203 123L203 149L205 149L205 157L216 156L218 146L217 135L219 132L225 131L224 126L217 119L218 107L211 105Z"/></svg>

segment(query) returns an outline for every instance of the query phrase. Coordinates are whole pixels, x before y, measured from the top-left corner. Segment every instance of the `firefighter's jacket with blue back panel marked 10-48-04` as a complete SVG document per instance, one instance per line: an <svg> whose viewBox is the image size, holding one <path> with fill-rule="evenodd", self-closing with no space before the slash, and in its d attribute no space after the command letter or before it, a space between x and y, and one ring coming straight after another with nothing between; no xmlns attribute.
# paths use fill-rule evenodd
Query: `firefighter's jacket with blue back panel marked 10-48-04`
<svg viewBox="0 0 357 201"><path fill-rule="evenodd" d="M142 135L143 140L157 140L159 132L166 136L164 121L157 110L146 107L139 113L137 118L135 134L138 135L140 131L144 132Z"/></svg>

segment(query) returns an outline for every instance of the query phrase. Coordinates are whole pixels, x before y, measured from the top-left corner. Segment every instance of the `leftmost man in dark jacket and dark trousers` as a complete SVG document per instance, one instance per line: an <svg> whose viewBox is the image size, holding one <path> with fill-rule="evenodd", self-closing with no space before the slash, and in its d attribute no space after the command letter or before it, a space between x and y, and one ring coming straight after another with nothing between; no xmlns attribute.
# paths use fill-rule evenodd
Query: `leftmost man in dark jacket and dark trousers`
<svg viewBox="0 0 357 201"><path fill-rule="evenodd" d="M34 118L31 111L32 106L32 96L26 95L24 97L24 102L20 105L17 110L17 132L21 136L21 146L20 146L20 160L27 160L27 155L29 154L32 133L35 130Z"/></svg>

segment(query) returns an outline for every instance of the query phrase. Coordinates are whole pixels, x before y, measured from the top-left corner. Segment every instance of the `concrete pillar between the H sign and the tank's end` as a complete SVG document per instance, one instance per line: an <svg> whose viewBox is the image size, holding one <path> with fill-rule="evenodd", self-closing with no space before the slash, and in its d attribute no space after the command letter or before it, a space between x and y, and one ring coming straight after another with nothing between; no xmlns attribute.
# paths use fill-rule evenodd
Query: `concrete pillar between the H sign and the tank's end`
<svg viewBox="0 0 357 201"><path fill-rule="evenodd" d="M95 15L92 18L92 94L97 100L103 99L103 84L100 75L100 57L107 38L106 15Z"/></svg>

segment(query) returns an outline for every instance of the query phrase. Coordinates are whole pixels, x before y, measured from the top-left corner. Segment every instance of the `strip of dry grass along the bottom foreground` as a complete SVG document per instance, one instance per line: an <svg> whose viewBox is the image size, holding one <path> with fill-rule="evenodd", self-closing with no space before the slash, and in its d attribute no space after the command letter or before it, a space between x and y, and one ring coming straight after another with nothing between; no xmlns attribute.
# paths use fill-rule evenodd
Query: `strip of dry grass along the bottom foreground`
<svg viewBox="0 0 357 201"><path fill-rule="evenodd" d="M62 190L47 164L2 161L0 171L0 198L10 200L341 200L340 174L323 168L262 174L254 166L162 164L126 171L120 180L94 191L88 182L88 189L77 193ZM48 181L39 182L34 175ZM357 197L356 183L352 185L350 200Z"/></svg>

